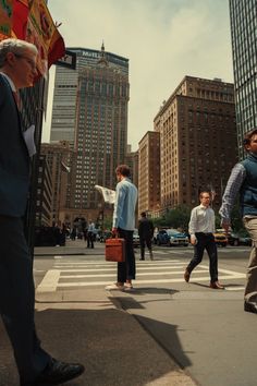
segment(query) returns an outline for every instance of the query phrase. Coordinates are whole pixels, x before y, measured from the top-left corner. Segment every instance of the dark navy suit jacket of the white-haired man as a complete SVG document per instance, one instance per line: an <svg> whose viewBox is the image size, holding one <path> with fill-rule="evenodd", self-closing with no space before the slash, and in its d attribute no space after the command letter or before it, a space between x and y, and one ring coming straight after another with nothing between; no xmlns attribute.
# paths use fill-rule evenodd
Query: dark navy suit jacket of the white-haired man
<svg viewBox="0 0 257 386"><path fill-rule="evenodd" d="M0 215L21 217L27 204L29 155L11 86L0 74Z"/></svg>

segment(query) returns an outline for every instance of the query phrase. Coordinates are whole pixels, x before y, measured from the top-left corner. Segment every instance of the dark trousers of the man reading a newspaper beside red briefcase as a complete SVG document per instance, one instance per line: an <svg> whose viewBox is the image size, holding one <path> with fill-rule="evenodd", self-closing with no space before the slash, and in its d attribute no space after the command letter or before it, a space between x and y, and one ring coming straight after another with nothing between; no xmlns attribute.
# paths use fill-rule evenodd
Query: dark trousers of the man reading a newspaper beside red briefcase
<svg viewBox="0 0 257 386"><path fill-rule="evenodd" d="M135 279L136 264L133 248L133 230L118 229L119 237L125 240L125 262L118 263L118 281Z"/></svg>

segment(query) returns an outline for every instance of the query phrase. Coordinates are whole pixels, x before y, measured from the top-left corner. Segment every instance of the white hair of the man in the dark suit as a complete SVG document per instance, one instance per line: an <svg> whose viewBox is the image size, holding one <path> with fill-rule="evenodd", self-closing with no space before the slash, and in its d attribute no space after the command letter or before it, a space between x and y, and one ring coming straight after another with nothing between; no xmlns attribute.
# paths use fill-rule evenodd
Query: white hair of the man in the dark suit
<svg viewBox="0 0 257 386"><path fill-rule="evenodd" d="M0 68L4 65L8 52L23 55L25 50L38 53L37 47L25 40L9 38L0 41Z"/></svg>

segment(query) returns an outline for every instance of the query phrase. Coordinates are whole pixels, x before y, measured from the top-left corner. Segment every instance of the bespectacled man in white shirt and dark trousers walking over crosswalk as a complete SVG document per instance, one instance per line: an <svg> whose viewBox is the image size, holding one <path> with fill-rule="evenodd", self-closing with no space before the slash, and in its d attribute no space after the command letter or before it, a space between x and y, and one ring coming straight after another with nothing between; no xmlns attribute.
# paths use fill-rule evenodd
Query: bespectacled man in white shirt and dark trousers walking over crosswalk
<svg viewBox="0 0 257 386"><path fill-rule="evenodd" d="M194 245L194 257L187 265L184 279L189 281L192 270L201 262L205 250L209 256L210 288L224 289L218 281L218 254L215 242L215 210L210 207L210 193L201 191L200 205L194 207L191 213L189 237Z"/></svg>

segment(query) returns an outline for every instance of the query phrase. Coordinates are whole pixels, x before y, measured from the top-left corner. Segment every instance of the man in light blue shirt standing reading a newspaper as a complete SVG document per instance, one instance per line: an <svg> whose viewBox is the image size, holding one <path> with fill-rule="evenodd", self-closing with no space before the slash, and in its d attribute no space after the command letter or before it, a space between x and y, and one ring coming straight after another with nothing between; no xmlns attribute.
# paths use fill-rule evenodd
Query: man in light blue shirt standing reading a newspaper
<svg viewBox="0 0 257 386"><path fill-rule="evenodd" d="M112 234L125 240L125 262L118 263L117 282L107 286L106 289L130 291L133 289L132 280L135 279L136 275L133 231L135 229L137 189L130 180L128 166L118 166L115 173L118 184L115 189Z"/></svg>

